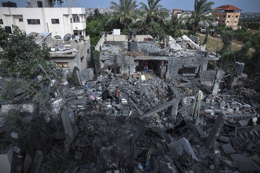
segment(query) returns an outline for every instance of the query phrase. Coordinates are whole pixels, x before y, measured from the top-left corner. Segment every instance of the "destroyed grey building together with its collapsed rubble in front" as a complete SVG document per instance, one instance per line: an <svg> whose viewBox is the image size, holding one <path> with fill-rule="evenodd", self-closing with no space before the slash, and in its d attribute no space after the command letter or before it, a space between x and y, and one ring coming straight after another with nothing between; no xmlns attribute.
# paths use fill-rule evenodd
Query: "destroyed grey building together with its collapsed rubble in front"
<svg viewBox="0 0 260 173"><path fill-rule="evenodd" d="M93 69L80 70L81 87L57 88L51 100L61 134L43 136L39 150L26 153L19 166L44 172L42 151L62 143L68 159L62 172L259 172L259 92L240 85L238 96L235 83L227 89L223 69L208 62L219 55L195 37L160 43L133 33L100 39L97 79L88 75ZM103 102L103 91L111 88L113 95L116 87L121 104L114 96ZM93 90L98 109L89 98ZM1 158L7 162L9 155Z"/></svg>

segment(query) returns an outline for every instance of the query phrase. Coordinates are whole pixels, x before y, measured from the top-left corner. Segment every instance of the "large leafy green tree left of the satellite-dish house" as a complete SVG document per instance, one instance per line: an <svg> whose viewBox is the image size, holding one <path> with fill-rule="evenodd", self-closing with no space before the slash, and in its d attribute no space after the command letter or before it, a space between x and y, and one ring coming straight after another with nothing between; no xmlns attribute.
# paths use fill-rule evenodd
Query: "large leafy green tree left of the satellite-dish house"
<svg viewBox="0 0 260 173"><path fill-rule="evenodd" d="M43 45L41 49L32 37L20 34L10 36L0 59L4 59L3 66L10 75L30 79L42 73L39 64L45 66L45 57L50 57L49 48Z"/></svg>

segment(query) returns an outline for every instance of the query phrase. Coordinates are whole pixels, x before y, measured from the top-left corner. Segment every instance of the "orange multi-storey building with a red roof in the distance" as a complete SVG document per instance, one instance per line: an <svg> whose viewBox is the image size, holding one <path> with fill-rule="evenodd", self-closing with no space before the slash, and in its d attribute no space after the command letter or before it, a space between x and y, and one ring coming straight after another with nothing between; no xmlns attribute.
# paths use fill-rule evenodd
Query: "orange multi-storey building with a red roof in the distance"
<svg viewBox="0 0 260 173"><path fill-rule="evenodd" d="M232 27L234 30L240 28L238 26L238 20L241 13L241 9L235 7L234 5L222 5L220 7L213 8L215 10L212 14L218 16L220 20L218 25L226 25L227 27Z"/></svg>

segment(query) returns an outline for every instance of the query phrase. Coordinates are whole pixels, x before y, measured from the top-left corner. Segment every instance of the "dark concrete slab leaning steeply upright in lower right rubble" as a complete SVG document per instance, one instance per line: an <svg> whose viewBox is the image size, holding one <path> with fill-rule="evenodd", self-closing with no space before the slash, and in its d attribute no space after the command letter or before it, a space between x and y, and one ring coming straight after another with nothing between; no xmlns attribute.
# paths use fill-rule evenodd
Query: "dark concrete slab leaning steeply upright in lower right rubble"
<svg viewBox="0 0 260 173"><path fill-rule="evenodd" d="M213 124L212 129L209 132L209 135L206 140L206 148L208 149L211 149L214 146L217 137L221 131L221 128L224 125L225 119L223 116L224 114L222 114L221 112L218 113L217 119L215 120L215 123Z"/></svg>

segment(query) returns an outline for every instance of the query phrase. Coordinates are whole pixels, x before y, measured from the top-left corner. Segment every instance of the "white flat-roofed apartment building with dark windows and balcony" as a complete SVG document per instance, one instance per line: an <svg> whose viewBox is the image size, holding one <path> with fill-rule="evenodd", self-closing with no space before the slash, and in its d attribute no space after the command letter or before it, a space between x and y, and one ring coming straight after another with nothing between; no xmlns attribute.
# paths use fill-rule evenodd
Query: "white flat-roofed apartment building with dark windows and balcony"
<svg viewBox="0 0 260 173"><path fill-rule="evenodd" d="M30 5L33 7L0 7L0 26L17 25L27 34L51 32L53 37L62 39L67 33L85 37L85 8L45 7L47 3L37 3L39 7Z"/></svg>

